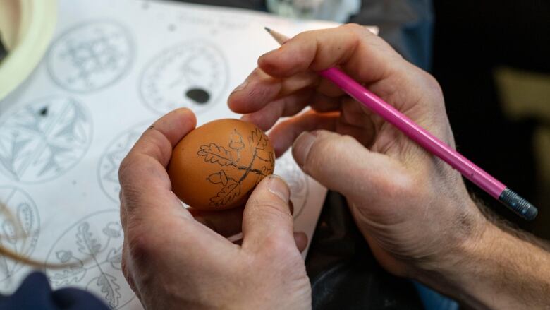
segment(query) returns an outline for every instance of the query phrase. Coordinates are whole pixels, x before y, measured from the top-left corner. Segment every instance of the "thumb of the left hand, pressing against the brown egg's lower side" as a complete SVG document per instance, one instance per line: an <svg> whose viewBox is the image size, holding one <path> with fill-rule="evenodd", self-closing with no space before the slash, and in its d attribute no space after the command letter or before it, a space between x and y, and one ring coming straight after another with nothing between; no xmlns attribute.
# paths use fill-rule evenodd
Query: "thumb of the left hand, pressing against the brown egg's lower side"
<svg viewBox="0 0 550 310"><path fill-rule="evenodd" d="M270 175L256 186L243 213L243 248L293 246L294 222L288 205L291 191L281 177Z"/></svg>

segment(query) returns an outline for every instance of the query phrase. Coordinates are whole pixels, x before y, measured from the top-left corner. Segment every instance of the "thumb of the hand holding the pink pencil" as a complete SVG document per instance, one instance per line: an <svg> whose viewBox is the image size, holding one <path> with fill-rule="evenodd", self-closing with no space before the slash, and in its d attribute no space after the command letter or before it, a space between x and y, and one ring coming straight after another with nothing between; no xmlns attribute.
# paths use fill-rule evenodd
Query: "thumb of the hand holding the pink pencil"
<svg viewBox="0 0 550 310"><path fill-rule="evenodd" d="M292 145L292 155L306 174L348 198L383 194L396 166L355 138L324 130L300 134Z"/></svg>

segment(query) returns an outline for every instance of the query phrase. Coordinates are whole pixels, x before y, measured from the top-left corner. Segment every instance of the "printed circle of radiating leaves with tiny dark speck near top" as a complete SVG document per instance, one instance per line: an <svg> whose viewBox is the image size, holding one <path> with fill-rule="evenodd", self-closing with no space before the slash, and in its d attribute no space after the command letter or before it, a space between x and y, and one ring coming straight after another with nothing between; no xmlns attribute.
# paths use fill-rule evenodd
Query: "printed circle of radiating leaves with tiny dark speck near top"
<svg viewBox="0 0 550 310"><path fill-rule="evenodd" d="M0 172L25 183L71 169L92 141L92 120L71 98L50 97L12 110L0 121Z"/></svg>

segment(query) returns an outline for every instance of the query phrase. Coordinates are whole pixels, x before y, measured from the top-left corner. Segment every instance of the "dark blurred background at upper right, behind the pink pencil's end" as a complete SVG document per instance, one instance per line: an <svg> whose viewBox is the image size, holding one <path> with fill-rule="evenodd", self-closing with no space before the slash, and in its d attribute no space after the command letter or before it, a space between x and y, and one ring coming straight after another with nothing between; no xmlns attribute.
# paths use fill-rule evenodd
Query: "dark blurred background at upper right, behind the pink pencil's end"
<svg viewBox="0 0 550 310"><path fill-rule="evenodd" d="M434 1L432 74L458 150L539 208L525 222L550 239L550 1Z"/></svg>

